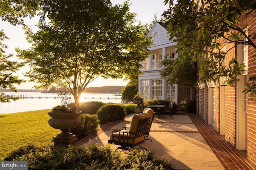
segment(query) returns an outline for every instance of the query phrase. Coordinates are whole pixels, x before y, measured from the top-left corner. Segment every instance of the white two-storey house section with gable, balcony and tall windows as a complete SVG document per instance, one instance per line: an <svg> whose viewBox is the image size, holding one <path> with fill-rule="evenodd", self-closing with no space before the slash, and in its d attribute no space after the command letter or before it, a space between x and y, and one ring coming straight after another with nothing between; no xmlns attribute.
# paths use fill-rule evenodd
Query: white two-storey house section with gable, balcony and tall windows
<svg viewBox="0 0 256 170"><path fill-rule="evenodd" d="M143 62L140 62L143 74L139 76L139 93L144 100L162 99L172 100L178 107L183 107L187 101L193 99L193 89L179 87L177 84L170 86L166 84L166 78L161 78L160 72L163 69L162 60L166 56L173 59L178 58L175 54L174 41L169 40L166 26L162 22L156 22L147 36L152 36L153 45L149 48L151 55Z"/></svg>

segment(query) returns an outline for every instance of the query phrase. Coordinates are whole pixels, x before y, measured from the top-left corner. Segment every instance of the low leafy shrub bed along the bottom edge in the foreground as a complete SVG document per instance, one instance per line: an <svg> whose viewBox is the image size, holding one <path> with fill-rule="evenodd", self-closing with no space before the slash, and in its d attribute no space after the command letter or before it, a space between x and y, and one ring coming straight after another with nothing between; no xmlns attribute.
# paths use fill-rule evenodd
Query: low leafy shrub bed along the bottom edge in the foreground
<svg viewBox="0 0 256 170"><path fill-rule="evenodd" d="M53 145L38 147L26 145L6 157L5 160L26 160L29 169L36 170L174 170L166 159L155 158L154 152L137 152L127 156L112 151L110 145L86 145L85 147L57 148Z"/></svg>

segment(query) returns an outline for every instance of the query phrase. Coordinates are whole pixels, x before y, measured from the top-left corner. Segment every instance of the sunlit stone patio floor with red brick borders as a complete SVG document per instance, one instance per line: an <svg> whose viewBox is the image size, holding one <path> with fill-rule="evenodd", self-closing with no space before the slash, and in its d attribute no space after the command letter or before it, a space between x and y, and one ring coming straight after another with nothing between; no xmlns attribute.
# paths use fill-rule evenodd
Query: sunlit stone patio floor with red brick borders
<svg viewBox="0 0 256 170"><path fill-rule="evenodd" d="M128 115L126 121L131 120L131 118L132 115ZM82 146L95 143L107 145L110 130L122 130L127 124L126 121L103 125L98 134L93 135L90 140L88 137L78 141L77 144ZM142 147L147 148L148 151L153 150L158 158L166 158L166 160L173 162L177 170L252 169L240 152L233 149L232 153L227 145L217 146L210 143L223 142L223 139L221 140L221 137L220 139L216 138L219 135L209 133L212 128L208 129L204 126L210 128L194 114L177 114L174 115L174 119L168 115L159 120L158 117L155 117L149 136L152 142L145 140ZM201 134L202 130L204 131L203 134ZM220 149L214 148L214 146L220 147ZM119 146L111 146L114 150L117 147ZM224 154L225 152L221 149L228 152ZM122 153L125 154L125 152Z"/></svg>

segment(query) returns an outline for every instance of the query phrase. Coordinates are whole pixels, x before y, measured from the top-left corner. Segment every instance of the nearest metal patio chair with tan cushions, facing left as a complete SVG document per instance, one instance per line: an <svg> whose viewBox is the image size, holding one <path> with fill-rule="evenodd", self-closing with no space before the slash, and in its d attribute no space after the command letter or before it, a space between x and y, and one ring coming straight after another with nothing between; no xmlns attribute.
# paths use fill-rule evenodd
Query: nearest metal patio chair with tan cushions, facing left
<svg viewBox="0 0 256 170"><path fill-rule="evenodd" d="M148 123L150 121L150 116L148 113L140 113L134 115L132 117L131 126L128 130L121 131L111 131L110 139L108 143L113 143L114 145L120 145L118 149L128 150L130 149L139 149L135 148L136 146L140 147L140 149L145 149L140 146L140 144L144 143L145 134L148 129Z"/></svg>

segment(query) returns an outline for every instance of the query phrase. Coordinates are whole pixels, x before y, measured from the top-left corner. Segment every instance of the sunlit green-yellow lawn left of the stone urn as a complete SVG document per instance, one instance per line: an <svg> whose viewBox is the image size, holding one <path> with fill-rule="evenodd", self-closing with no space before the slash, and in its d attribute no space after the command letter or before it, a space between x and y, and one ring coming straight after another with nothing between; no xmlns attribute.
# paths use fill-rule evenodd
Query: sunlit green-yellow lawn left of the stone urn
<svg viewBox="0 0 256 170"><path fill-rule="evenodd" d="M52 137L61 131L48 124L49 111L51 109L0 115L0 160L29 143L51 143Z"/></svg>

